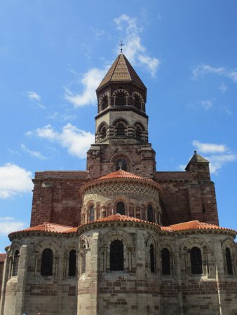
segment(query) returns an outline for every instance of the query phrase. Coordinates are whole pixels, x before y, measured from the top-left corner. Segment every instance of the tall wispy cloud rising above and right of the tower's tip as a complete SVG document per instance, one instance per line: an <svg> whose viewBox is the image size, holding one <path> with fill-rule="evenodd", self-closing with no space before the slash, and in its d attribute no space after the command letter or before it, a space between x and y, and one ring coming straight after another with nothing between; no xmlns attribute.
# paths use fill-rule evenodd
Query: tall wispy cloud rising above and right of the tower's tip
<svg viewBox="0 0 237 315"><path fill-rule="evenodd" d="M129 61L133 64L146 66L151 76L155 76L161 61L158 58L147 55L147 49L141 43L140 34L142 28L137 26L137 19L123 14L119 18L114 19L114 22L119 31L123 32L123 34L125 32L123 38L126 45L124 45L123 52Z"/></svg>

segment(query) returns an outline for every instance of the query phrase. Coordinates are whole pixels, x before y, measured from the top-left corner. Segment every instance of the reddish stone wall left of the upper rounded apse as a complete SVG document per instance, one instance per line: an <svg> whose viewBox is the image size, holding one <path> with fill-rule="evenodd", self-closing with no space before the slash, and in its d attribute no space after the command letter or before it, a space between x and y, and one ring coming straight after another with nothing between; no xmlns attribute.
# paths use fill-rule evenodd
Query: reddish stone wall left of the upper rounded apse
<svg viewBox="0 0 237 315"><path fill-rule="evenodd" d="M80 225L79 188L88 180L88 172L36 172L31 226L43 222Z"/></svg>

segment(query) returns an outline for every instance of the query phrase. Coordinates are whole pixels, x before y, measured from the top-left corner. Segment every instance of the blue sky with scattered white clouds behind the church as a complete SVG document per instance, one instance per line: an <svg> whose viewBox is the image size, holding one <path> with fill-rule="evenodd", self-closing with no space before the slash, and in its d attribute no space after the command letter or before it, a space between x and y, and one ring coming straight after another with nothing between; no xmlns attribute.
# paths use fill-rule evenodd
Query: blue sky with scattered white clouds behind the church
<svg viewBox="0 0 237 315"><path fill-rule="evenodd" d="M95 89L123 52L147 86L158 171L210 160L220 225L237 229L237 3L0 2L0 251L29 226L34 172L86 169Z"/></svg>

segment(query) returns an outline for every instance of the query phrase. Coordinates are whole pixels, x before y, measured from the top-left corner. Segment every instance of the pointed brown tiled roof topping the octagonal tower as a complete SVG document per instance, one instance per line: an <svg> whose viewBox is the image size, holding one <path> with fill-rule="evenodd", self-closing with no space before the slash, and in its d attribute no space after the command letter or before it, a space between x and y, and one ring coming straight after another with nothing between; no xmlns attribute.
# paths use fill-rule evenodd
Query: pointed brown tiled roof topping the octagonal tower
<svg viewBox="0 0 237 315"><path fill-rule="evenodd" d="M142 80L123 53L118 55L114 63L111 65L111 68L104 76L102 82L97 87L97 90L109 82L133 82L147 90L147 87L142 83Z"/></svg>

